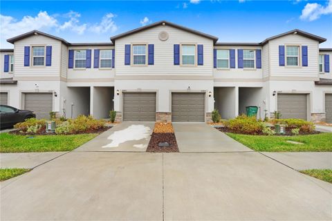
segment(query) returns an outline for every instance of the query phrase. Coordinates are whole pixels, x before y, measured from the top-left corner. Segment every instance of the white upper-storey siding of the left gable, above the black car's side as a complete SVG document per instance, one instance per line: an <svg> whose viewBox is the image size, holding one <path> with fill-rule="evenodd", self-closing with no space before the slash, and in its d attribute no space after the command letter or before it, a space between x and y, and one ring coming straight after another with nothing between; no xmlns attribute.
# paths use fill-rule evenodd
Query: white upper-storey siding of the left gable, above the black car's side
<svg viewBox="0 0 332 221"><path fill-rule="evenodd" d="M24 46L52 46L52 66L33 67L24 66ZM15 42L15 77L59 77L60 59L61 59L61 41L45 37L42 35L34 35L26 37Z"/></svg>

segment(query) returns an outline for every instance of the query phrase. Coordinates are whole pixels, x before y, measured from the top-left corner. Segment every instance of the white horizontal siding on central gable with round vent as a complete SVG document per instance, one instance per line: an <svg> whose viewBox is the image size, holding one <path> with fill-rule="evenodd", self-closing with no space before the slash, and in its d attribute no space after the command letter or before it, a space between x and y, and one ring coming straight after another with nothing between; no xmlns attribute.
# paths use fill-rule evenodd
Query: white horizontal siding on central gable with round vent
<svg viewBox="0 0 332 221"><path fill-rule="evenodd" d="M158 34L166 31L167 41L160 41ZM154 44L154 65L124 66L125 44ZM203 44L203 66L174 66L174 44ZM213 41L190 32L169 26L157 26L116 40L116 75L212 75ZM197 57L196 57L197 59Z"/></svg>

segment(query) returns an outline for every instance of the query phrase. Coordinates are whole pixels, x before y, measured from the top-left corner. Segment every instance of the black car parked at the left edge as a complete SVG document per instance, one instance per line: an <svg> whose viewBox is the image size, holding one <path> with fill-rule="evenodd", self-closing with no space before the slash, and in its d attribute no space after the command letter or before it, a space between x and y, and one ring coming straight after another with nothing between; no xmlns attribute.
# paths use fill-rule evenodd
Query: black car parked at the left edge
<svg viewBox="0 0 332 221"><path fill-rule="evenodd" d="M12 106L0 105L0 128L12 127L32 117L36 117L33 111L24 111Z"/></svg>

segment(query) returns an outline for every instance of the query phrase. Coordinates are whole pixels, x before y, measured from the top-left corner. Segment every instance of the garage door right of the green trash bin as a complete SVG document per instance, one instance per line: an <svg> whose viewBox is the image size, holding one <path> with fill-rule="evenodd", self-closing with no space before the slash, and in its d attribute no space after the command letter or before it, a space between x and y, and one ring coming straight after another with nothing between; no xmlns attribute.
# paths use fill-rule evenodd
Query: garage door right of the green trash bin
<svg viewBox="0 0 332 221"><path fill-rule="evenodd" d="M277 108L281 118L307 119L307 95L278 94Z"/></svg>

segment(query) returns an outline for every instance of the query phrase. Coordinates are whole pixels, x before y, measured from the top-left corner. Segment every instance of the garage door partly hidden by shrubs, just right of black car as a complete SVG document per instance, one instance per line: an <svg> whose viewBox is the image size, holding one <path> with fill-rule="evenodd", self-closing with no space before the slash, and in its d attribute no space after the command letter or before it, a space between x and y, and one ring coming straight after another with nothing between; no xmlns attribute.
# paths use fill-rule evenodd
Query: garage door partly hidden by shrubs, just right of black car
<svg viewBox="0 0 332 221"><path fill-rule="evenodd" d="M34 111L39 119L50 117L53 104L52 93L26 93L24 95L25 110Z"/></svg>

